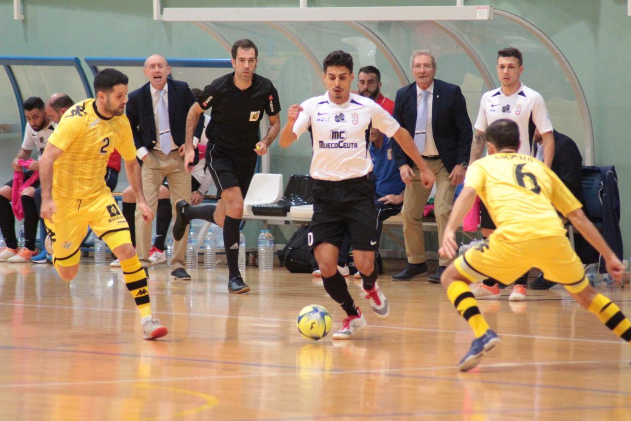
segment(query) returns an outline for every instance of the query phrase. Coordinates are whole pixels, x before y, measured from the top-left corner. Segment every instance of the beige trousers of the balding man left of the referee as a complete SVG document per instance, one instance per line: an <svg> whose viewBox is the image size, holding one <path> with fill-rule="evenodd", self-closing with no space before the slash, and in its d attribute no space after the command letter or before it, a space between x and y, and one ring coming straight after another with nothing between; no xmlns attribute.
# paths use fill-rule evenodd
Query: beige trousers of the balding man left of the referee
<svg viewBox="0 0 631 421"><path fill-rule="evenodd" d="M175 203L178 199L191 200L191 174L184 170L184 157L180 157L177 150L165 155L162 151L151 150L142 167L143 194L149 207L155 215L158 208L158 191L164 177L168 179L168 187L171 193L171 206L175 220ZM140 208L136 206L136 253L143 266L149 263L149 251L151 249L151 233L153 224L144 223ZM171 270L185 268L186 243L189 229L181 241L173 244L173 256L171 258Z"/></svg>

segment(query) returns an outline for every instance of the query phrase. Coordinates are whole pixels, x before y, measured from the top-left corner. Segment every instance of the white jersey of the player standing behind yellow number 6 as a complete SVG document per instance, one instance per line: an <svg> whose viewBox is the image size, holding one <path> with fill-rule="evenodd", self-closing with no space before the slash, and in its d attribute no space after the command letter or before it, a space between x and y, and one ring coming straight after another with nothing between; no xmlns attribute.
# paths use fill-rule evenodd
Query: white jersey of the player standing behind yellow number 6
<svg viewBox="0 0 631 421"><path fill-rule="evenodd" d="M539 133L552 131L552 123L543 97L539 92L523 84L510 97L502 93L502 88L482 95L475 128L485 132L493 121L499 119L509 119L517 123L520 142L517 152L524 155L533 155L531 142L535 127L539 129Z"/></svg>

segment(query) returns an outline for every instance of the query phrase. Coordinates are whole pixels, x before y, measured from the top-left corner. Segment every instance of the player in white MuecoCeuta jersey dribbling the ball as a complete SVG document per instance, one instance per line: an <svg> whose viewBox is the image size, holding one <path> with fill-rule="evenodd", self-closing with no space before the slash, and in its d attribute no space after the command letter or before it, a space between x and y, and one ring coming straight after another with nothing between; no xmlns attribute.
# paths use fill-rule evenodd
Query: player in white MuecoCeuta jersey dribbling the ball
<svg viewBox="0 0 631 421"><path fill-rule="evenodd" d="M399 127L399 123L370 98L351 94L354 74L350 54L333 51L324 59L323 67L327 92L290 107L280 145L286 148L307 130L311 134L310 174L315 184L309 246L313 247L324 289L347 314L333 339L348 339L363 328L366 321L353 304L344 276L337 268L339 246L346 233L351 238L353 259L362 276L365 297L377 317L389 316L374 266L377 237L374 186L368 178L372 170L368 150L370 129L375 127L396 139L420 168L425 187L432 187L434 176L408 131Z"/></svg>

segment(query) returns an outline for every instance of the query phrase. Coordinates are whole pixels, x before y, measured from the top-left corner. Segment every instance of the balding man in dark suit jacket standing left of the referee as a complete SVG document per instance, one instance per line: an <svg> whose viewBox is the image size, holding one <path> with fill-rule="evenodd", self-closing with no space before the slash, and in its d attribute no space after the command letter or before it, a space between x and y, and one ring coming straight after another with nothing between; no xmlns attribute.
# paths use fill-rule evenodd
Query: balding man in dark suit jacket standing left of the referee
<svg viewBox="0 0 631 421"><path fill-rule="evenodd" d="M143 161L143 193L154 213L164 177L168 179L172 204L191 197L191 175L184 168L184 138L186 116L195 97L186 82L169 80L170 73L171 68L164 57L155 54L146 59L144 75L149 82L130 93L127 102L127 118L137 155ZM202 129L203 119L196 127L196 138L201 137ZM143 265L150 266L152 227L142 223L142 217L136 209L136 251ZM191 280L185 270L185 252L186 237L174 243L171 275L175 280Z"/></svg>

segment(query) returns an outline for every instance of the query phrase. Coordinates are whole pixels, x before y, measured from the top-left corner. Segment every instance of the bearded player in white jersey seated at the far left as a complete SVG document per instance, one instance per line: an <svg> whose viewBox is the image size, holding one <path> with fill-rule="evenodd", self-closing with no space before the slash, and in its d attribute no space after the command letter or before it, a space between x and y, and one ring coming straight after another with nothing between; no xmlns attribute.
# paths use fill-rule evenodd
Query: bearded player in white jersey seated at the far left
<svg viewBox="0 0 631 421"><path fill-rule="evenodd" d="M54 125L46 116L42 98L27 98L22 106L28 124L24 132L20 151L18 151L11 163L11 167L16 172L23 172L23 180L27 181L38 170L38 158L44 152L44 147L52 134ZM26 169L21 167L19 161L28 160L33 149L37 150L37 159L33 160ZM35 256L35 237L37 236L39 215L33 195L35 194L35 189L39 187L39 181L35 181L29 187L23 189L19 196L16 196L21 203L24 213L25 243L21 249L18 249L18 240L15 235L15 216L11 208L12 205L15 207L15 203L11 203L13 201L13 193L17 193L13 191L13 181L11 179L4 186L0 187L0 230L6 242L5 247L0 249L0 262L27 263L30 258ZM16 186L16 189L20 189L20 187Z"/></svg>

